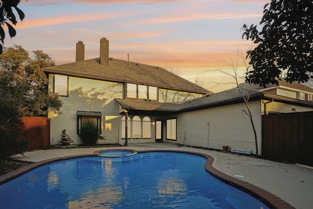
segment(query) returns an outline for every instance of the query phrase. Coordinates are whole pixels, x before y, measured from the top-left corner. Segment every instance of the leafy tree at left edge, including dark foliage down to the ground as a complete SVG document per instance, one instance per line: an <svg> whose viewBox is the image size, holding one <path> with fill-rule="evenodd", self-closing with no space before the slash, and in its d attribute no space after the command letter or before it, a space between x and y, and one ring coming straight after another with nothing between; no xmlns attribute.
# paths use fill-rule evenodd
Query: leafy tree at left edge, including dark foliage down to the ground
<svg viewBox="0 0 313 209"><path fill-rule="evenodd" d="M27 143L21 139L22 116L47 116L59 113L62 101L48 93L43 68L53 66L41 50L34 58L22 46L5 48L0 55L0 157L21 153Z"/></svg>

